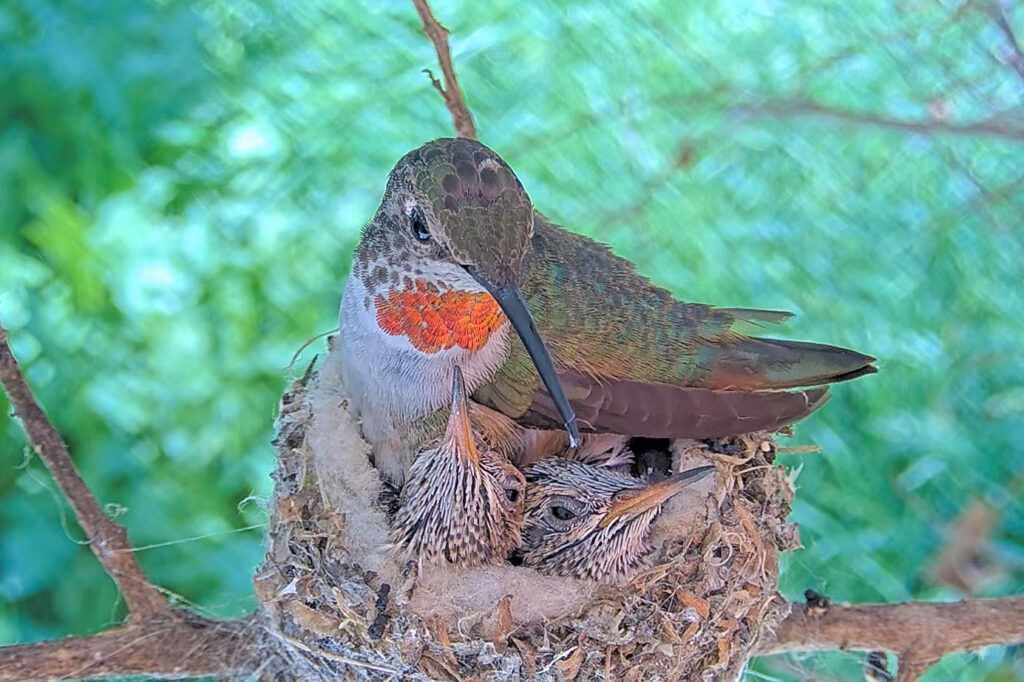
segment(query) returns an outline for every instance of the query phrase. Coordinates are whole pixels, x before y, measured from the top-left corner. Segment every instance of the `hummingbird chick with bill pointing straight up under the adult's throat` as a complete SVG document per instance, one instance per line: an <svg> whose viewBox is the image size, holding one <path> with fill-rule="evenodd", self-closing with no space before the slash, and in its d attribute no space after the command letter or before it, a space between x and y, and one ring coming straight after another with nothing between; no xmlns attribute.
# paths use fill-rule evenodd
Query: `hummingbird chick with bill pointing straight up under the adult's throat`
<svg viewBox="0 0 1024 682"><path fill-rule="evenodd" d="M440 442L413 462L391 542L400 557L459 567L503 563L520 542L523 475L473 432L456 367Z"/></svg>

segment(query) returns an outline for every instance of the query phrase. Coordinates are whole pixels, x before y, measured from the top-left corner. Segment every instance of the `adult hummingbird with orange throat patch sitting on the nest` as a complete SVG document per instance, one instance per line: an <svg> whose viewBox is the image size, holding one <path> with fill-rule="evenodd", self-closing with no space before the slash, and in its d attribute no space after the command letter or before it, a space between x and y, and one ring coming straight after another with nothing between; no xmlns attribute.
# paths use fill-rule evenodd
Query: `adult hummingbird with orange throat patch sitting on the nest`
<svg viewBox="0 0 1024 682"><path fill-rule="evenodd" d="M874 372L852 350L748 336L787 313L676 300L550 222L501 157L464 138L395 165L339 316L349 406L394 482L443 431L457 365L498 430L564 427L572 444L577 416L649 437L774 430L820 407L828 383Z"/></svg>

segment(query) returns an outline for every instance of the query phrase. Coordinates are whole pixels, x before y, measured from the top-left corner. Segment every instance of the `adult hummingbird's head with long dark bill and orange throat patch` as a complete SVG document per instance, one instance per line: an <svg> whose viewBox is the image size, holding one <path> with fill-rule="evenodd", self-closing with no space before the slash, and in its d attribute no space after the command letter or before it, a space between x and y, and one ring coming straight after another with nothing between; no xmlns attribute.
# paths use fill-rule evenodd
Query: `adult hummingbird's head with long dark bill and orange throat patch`
<svg viewBox="0 0 1024 682"><path fill-rule="evenodd" d="M579 441L572 408L519 289L532 236L534 207L508 164L475 140L436 139L391 171L355 267L368 290L395 292L394 300L377 301L382 329L409 332L411 318L414 346L424 352L455 344L478 350L507 318ZM500 313L486 307L495 302ZM410 304L416 313L403 314Z"/></svg>

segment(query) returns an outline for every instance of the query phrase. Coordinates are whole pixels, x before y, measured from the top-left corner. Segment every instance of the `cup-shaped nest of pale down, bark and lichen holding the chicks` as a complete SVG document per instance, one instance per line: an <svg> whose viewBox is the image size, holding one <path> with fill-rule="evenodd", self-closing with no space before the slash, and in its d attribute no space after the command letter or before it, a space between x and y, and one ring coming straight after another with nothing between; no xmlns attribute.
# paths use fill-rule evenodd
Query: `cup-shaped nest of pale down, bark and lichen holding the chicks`
<svg viewBox="0 0 1024 682"><path fill-rule="evenodd" d="M260 679L734 680L787 614L778 553L793 485L750 434L673 443L716 474L667 503L649 568L624 584L504 565L396 563L383 485L332 352L281 402L269 548L255 578L272 651Z"/></svg>

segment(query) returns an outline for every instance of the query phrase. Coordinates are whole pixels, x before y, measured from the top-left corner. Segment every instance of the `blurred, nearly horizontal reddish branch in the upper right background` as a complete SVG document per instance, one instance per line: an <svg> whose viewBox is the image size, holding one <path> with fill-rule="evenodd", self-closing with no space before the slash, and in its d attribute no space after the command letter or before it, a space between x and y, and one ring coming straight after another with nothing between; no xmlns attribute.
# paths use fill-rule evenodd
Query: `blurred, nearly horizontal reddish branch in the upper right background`
<svg viewBox="0 0 1024 682"><path fill-rule="evenodd" d="M906 121L879 116L878 114L827 106L802 99L767 101L756 105L741 106L738 108L738 111L753 117L817 116L907 132L997 137L1014 142L1024 142L1024 126L1002 123L995 119L964 124L949 123L940 119Z"/></svg>

